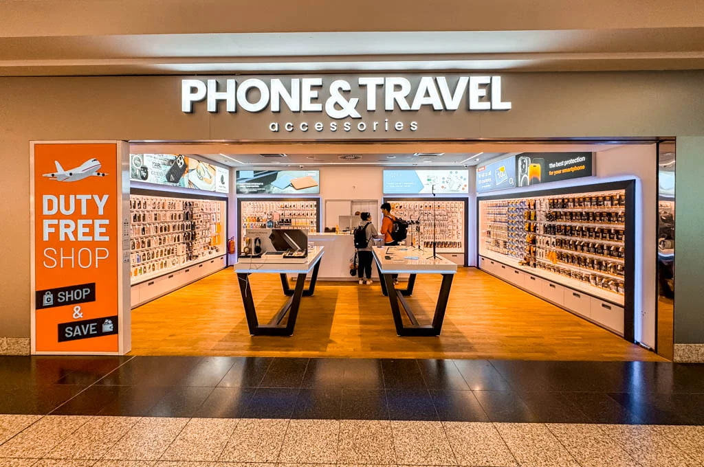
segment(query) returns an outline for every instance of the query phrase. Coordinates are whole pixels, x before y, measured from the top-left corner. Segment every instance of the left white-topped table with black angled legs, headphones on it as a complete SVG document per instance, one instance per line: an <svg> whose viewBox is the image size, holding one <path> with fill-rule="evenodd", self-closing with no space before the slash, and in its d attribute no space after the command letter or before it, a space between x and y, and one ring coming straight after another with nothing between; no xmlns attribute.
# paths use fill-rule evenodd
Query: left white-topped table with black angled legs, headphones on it
<svg viewBox="0 0 704 467"><path fill-rule="evenodd" d="M320 269L322 254L322 247L313 247L308 250L308 257L306 257L305 260L298 260L298 262L295 262L296 260L278 260L277 262L272 262L272 260L262 258L239 259L239 262L234 265L234 271L237 273L237 282L239 283L239 290L242 294L244 313L251 335L291 335L294 333L298 307L301 305L301 297L310 297L315 291L315 281L318 280L318 269ZM306 276L311 271L313 274L310 277L310 286L304 289L303 286L306 283ZM252 298L252 290L249 286L249 275L256 273L279 274L281 276L284 295L291 297L268 324L259 324L257 312L254 307L254 300ZM292 290L289 287L287 274L296 274L296 286ZM284 321L287 315L288 320L286 324L282 324L282 321Z"/></svg>

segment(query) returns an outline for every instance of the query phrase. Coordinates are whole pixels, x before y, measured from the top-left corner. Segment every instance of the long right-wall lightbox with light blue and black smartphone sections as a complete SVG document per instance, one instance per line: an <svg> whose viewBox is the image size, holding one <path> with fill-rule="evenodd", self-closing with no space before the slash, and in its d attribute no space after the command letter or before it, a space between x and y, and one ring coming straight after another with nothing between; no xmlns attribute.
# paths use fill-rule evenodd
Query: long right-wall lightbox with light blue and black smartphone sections
<svg viewBox="0 0 704 467"><path fill-rule="evenodd" d="M477 168L477 193L590 177L592 153L522 153Z"/></svg>

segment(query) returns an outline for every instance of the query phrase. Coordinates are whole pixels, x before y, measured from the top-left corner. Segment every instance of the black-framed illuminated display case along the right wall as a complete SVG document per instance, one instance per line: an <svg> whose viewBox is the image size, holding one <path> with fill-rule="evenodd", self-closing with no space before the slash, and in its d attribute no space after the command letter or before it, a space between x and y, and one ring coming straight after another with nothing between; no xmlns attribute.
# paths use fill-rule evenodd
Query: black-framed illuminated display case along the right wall
<svg viewBox="0 0 704 467"><path fill-rule="evenodd" d="M633 193L634 181L624 181L480 197L480 267L482 258L496 260L503 269L515 268L514 274L551 281L548 288L565 287L563 298L582 298L583 292L628 315L635 276ZM541 295L533 284L522 285Z"/></svg>

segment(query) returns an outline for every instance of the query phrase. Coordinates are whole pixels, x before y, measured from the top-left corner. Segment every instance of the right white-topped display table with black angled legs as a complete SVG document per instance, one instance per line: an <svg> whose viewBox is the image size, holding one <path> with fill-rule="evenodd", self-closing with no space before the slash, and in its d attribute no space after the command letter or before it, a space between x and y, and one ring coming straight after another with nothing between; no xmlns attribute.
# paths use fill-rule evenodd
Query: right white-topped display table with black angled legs
<svg viewBox="0 0 704 467"><path fill-rule="evenodd" d="M382 283L382 293L389 297L391 314L394 316L396 334L398 335L440 335L445 319L447 300L450 297L452 279L457 272L457 264L444 257L428 258L429 250L412 250L405 246L381 246L372 248ZM416 259L417 258L417 259ZM406 289L396 289L394 274L410 274ZM417 274L441 274L442 283L435 305L432 324L421 325L410 309L406 298L413 294ZM410 320L410 326L403 324L401 307Z"/></svg>

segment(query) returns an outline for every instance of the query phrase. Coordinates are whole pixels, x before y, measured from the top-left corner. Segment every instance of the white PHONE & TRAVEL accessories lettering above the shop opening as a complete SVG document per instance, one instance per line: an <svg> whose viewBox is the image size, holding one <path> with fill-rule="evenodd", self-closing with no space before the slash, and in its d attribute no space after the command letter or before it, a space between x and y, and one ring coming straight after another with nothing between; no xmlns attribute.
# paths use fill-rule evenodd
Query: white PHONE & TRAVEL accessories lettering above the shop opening
<svg viewBox="0 0 704 467"><path fill-rule="evenodd" d="M501 76L181 80L183 113L248 113L248 123L256 124L258 133L263 131L259 125L265 125L269 135L413 136L427 122L421 117L426 109L455 113L510 108Z"/></svg>

